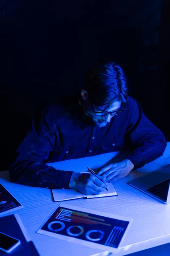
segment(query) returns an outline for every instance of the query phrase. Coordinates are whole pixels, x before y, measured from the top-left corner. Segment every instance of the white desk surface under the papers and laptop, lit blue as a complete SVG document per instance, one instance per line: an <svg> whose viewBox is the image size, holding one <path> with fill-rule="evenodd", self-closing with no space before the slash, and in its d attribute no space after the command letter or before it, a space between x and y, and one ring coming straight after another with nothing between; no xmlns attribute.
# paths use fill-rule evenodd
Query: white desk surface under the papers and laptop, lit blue
<svg viewBox="0 0 170 256"><path fill-rule="evenodd" d="M87 170L87 165L96 169L109 161L113 162L112 159L116 154L107 153L77 160L67 160L53 163L51 166L62 170L79 170L82 172ZM168 163L170 163L170 143L167 144L162 157L137 171L132 171L124 179L113 183L118 196L88 200L82 198L66 202L75 206L133 218L133 223L122 243L121 250L116 254L117 256L169 243L170 206L162 204L126 183ZM100 250L35 233L59 205L59 203L53 202L49 189L11 183L7 171L0 172L0 183L23 204L23 209L13 211L13 213L20 215L28 235L34 241L41 256L90 256L101 253Z"/></svg>

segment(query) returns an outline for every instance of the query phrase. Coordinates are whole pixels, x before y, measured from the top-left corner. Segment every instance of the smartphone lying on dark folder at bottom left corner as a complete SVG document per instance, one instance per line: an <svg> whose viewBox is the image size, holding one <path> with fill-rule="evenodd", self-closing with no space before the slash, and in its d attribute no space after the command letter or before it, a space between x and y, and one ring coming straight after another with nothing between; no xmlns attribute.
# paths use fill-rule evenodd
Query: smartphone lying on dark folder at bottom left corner
<svg viewBox="0 0 170 256"><path fill-rule="evenodd" d="M21 243L20 240L0 232L0 250L1 251L5 253L10 253L20 243Z"/></svg>

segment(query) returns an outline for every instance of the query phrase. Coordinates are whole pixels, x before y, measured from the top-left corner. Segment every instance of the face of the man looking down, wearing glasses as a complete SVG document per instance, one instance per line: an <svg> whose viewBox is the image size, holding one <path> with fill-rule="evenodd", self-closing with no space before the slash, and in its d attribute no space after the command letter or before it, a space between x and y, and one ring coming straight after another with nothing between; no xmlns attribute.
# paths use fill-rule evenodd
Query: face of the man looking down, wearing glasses
<svg viewBox="0 0 170 256"><path fill-rule="evenodd" d="M102 115L96 116L94 111L101 112L101 114L105 111L107 111L107 112L117 111L117 110L119 110L119 108L121 106L121 102L114 101L111 103L111 105L109 105L109 107L106 107L106 106L107 105L95 107L95 106L91 105L91 102L88 102L88 107L86 108L88 116L91 117L93 122L100 128L105 127L105 125L107 125L107 123L111 122L111 119L113 118L113 116L111 116L111 114L109 114L109 113L105 116L102 116ZM94 110L93 110L93 107L94 107Z"/></svg>

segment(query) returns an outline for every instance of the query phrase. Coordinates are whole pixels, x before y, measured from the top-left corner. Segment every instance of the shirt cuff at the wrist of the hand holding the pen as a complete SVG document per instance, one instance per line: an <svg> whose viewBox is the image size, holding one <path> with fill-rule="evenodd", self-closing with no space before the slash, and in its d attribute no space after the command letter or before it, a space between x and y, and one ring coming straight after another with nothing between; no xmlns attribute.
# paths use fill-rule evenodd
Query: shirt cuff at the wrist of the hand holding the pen
<svg viewBox="0 0 170 256"><path fill-rule="evenodd" d="M69 183L73 172L57 170L57 175L54 181L54 189L69 189Z"/></svg>

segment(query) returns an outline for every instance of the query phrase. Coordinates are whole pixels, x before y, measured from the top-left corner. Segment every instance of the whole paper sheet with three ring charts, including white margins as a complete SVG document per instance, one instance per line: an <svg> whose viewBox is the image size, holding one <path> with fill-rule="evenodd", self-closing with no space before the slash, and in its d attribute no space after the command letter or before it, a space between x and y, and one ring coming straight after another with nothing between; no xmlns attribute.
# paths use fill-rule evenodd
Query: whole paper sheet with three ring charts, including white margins
<svg viewBox="0 0 170 256"><path fill-rule="evenodd" d="M116 253L132 219L60 204L37 233Z"/></svg>

